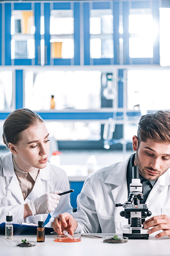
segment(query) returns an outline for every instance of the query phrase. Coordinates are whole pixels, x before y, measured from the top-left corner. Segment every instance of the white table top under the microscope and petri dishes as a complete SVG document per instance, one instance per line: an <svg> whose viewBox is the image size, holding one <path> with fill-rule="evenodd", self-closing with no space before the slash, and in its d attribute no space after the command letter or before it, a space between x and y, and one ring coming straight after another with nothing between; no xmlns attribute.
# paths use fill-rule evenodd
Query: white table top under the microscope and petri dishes
<svg viewBox="0 0 170 256"><path fill-rule="evenodd" d="M78 235L78 234L77 234ZM115 234L94 234L101 237ZM122 244L106 244L103 239L92 239L82 237L81 242L60 243L54 242L54 235L45 237L44 243L36 243L30 248L11 248L7 243L0 240L0 255L2 256L169 256L170 238L163 237L156 239L150 236L148 240L128 240ZM14 236L11 240L16 241L27 239L36 241L35 235Z"/></svg>

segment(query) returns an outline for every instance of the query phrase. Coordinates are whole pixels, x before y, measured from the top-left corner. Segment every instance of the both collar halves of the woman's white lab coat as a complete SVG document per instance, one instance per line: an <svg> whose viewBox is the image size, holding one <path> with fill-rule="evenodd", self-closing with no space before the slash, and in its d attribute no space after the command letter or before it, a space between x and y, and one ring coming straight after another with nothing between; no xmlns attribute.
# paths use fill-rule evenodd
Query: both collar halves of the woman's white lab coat
<svg viewBox="0 0 170 256"><path fill-rule="evenodd" d="M13 154L11 152L8 152L2 156L2 168L5 177L12 177L15 174L12 156ZM52 180L50 164L48 162L44 169L39 170L39 176L40 179Z"/></svg>

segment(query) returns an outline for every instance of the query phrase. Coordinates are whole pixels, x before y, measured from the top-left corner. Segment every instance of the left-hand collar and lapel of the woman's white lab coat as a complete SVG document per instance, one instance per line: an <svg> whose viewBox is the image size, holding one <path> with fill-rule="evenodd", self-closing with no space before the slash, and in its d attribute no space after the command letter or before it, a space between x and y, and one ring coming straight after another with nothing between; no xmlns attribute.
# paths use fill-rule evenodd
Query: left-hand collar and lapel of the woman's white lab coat
<svg viewBox="0 0 170 256"><path fill-rule="evenodd" d="M7 154L5 154L2 157L3 174L4 174L5 177L8 177L9 180L10 180L10 177L11 177L10 184L8 185L8 190L10 190L11 193L14 194L16 199L21 204L23 204L24 199L23 199L21 188L19 186L17 176L16 176L15 171L14 171L14 164L13 164L13 160L12 160L12 155L13 154L11 152L8 152Z"/></svg>

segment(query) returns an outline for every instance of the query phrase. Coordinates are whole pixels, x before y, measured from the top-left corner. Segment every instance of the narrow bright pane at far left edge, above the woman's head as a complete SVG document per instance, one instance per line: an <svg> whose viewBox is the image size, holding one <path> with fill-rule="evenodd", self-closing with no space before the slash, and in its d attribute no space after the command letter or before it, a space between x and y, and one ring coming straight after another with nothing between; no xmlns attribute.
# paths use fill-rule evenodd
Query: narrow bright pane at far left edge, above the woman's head
<svg viewBox="0 0 170 256"><path fill-rule="evenodd" d="M12 110L12 71L0 72L0 111Z"/></svg>

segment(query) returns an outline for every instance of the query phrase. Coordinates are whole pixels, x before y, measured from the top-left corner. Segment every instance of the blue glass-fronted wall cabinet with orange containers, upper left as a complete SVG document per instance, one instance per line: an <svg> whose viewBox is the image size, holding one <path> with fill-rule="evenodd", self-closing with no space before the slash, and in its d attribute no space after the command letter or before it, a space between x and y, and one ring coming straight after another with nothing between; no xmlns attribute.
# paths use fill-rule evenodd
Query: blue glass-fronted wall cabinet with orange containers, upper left
<svg viewBox="0 0 170 256"><path fill-rule="evenodd" d="M8 2L0 16L2 65L80 65L79 3Z"/></svg>

